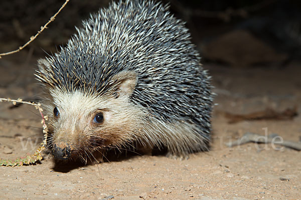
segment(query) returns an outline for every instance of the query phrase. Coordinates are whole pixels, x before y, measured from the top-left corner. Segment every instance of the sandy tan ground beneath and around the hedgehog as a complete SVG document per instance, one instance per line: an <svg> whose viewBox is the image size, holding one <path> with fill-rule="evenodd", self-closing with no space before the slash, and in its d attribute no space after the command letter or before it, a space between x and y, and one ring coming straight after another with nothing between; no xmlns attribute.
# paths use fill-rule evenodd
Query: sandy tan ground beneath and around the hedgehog
<svg viewBox="0 0 301 200"><path fill-rule="evenodd" d="M0 59L0 97L36 99L36 58L22 53ZM298 106L300 63L284 68L233 69L205 65L213 76L215 99L212 149L187 160L131 156L94 165L58 165L44 154L36 165L0 167L2 199L301 199L300 151L271 144L225 142L246 131L277 133L299 141L301 116L292 120L228 123L223 112L249 113ZM20 67L21 66L21 67ZM0 103L0 157L33 152L41 141L40 116L31 106ZM37 128L35 128L37 127ZM266 129L263 129L266 128ZM36 144L36 145L35 145Z"/></svg>

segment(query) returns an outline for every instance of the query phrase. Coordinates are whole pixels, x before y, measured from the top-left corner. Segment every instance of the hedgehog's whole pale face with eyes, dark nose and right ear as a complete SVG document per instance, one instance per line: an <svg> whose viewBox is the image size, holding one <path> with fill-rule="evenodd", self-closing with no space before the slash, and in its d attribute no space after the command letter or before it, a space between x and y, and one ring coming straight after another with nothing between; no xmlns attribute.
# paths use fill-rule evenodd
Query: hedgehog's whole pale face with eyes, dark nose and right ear
<svg viewBox="0 0 301 200"><path fill-rule="evenodd" d="M129 72L114 76L122 80L117 95L50 90L49 141L56 159L86 160L95 150L118 148L134 139L143 112L130 102L136 80L129 77Z"/></svg>

